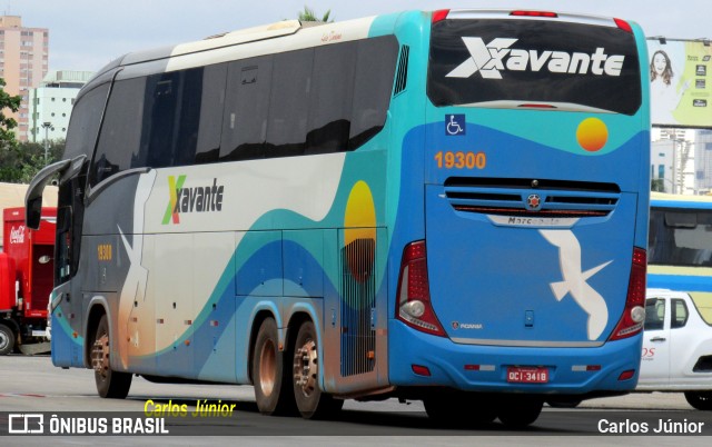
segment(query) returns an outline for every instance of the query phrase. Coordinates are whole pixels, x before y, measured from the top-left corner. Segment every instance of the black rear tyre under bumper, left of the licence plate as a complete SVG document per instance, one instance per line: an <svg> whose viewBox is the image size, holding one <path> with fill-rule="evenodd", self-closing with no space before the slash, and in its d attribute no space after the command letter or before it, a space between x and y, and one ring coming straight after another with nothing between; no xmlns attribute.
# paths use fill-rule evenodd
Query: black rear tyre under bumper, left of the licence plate
<svg viewBox="0 0 712 447"><path fill-rule="evenodd" d="M447 427L490 424L497 418L493 401L467 394L433 396L424 399L423 405L431 420Z"/></svg>

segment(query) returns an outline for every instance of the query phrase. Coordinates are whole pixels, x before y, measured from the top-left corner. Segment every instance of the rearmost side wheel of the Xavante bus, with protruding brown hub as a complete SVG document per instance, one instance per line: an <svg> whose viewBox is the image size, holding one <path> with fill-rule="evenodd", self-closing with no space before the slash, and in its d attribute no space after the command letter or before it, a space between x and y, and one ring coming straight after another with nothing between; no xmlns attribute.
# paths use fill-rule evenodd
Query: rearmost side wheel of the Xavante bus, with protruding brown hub
<svg viewBox="0 0 712 447"><path fill-rule="evenodd" d="M294 345L294 397L307 419L323 419L342 409L344 400L319 389L319 359L316 329L312 321L299 327Z"/></svg>

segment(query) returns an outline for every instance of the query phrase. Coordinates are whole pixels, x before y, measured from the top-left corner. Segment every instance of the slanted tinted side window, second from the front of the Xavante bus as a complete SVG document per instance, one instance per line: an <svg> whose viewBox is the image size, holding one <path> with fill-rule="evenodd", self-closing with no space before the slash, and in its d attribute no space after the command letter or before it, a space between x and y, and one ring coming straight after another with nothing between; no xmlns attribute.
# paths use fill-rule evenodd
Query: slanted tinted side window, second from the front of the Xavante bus
<svg viewBox="0 0 712 447"><path fill-rule="evenodd" d="M137 163L145 90L145 78L115 82L89 172L92 186Z"/></svg>

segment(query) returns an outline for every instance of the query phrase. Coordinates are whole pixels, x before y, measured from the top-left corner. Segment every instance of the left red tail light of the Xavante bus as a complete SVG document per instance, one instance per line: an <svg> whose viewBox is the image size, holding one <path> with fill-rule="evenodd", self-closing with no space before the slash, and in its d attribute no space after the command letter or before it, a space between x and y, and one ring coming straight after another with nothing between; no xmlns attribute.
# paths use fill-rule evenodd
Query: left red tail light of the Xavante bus
<svg viewBox="0 0 712 447"><path fill-rule="evenodd" d="M445 336L431 305L425 241L408 244L403 250L398 278L396 318L423 332Z"/></svg>

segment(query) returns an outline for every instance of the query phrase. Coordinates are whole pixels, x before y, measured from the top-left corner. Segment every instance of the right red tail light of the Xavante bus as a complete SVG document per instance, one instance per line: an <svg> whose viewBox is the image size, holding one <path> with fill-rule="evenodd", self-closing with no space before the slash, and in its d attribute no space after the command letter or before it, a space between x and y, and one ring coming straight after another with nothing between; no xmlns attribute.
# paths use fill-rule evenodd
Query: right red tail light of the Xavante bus
<svg viewBox="0 0 712 447"><path fill-rule="evenodd" d="M627 285L627 297L623 317L619 321L610 340L632 337L643 330L645 320L645 266L646 254L642 248L633 248L633 266Z"/></svg>

